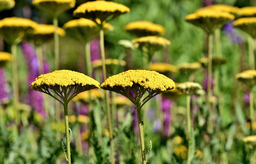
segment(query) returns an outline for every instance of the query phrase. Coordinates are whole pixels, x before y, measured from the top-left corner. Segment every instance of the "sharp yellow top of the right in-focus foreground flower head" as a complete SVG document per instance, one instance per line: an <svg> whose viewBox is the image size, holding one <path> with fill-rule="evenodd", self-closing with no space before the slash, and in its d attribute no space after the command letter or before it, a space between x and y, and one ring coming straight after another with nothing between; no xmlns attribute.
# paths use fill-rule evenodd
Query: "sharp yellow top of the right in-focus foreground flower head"
<svg viewBox="0 0 256 164"><path fill-rule="evenodd" d="M128 70L120 74L110 76L101 84L101 88L108 89L115 86L123 88L132 87L133 84L139 84L144 89L166 91L175 87L172 79L148 70Z"/></svg>

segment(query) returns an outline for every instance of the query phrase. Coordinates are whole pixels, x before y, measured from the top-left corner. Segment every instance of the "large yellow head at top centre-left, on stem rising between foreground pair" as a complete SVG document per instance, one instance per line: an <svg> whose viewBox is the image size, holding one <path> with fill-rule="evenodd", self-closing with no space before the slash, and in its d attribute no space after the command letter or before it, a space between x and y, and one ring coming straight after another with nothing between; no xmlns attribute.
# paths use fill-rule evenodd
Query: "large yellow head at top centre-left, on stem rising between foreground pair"
<svg viewBox="0 0 256 164"><path fill-rule="evenodd" d="M105 22L127 12L130 12L130 9L123 4L96 0L81 4L76 10L74 10L73 15L93 20L97 24L102 25Z"/></svg>

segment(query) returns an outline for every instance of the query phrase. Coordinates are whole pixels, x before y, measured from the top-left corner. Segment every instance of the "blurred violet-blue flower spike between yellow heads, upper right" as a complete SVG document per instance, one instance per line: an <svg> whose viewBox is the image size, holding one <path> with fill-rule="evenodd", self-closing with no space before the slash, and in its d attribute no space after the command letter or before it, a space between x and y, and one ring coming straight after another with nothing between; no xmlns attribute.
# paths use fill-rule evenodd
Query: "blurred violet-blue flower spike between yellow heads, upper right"
<svg viewBox="0 0 256 164"><path fill-rule="evenodd" d="M233 27L233 21L230 21L222 27L222 30L229 36L234 43L241 44L243 42L242 37Z"/></svg>

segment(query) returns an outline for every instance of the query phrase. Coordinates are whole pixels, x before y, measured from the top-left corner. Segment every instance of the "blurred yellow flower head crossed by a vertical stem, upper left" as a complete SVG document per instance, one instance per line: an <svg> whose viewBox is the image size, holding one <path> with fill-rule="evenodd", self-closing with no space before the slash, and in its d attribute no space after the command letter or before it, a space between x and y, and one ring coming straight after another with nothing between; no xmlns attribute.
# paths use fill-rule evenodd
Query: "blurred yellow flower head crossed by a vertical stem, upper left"
<svg viewBox="0 0 256 164"><path fill-rule="evenodd" d="M58 27L57 33L59 36L65 36L64 29ZM34 42L36 46L40 46L54 38L54 26L49 24L38 24L32 33L24 36L24 40Z"/></svg>

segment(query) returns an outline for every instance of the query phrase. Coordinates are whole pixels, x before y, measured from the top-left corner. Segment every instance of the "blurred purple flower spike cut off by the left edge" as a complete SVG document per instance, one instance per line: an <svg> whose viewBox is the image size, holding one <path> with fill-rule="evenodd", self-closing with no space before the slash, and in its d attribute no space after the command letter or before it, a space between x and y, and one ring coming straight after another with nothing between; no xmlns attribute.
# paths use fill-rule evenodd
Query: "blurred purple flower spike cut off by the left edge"
<svg viewBox="0 0 256 164"><path fill-rule="evenodd" d="M6 90L7 80L5 78L5 71L0 68L0 104L2 105L6 100L9 99L9 94Z"/></svg>

